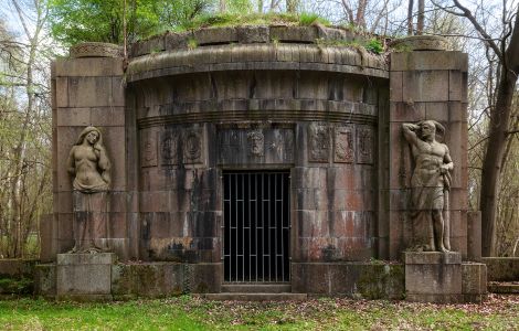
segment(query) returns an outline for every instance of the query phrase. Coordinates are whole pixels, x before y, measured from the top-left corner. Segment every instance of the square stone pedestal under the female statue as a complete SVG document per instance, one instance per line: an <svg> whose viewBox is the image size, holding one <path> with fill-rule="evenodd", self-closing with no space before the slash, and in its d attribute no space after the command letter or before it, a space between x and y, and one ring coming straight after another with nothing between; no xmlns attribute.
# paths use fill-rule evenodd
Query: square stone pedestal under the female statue
<svg viewBox="0 0 519 331"><path fill-rule="evenodd" d="M114 253L57 254L56 299L74 301L112 300Z"/></svg>

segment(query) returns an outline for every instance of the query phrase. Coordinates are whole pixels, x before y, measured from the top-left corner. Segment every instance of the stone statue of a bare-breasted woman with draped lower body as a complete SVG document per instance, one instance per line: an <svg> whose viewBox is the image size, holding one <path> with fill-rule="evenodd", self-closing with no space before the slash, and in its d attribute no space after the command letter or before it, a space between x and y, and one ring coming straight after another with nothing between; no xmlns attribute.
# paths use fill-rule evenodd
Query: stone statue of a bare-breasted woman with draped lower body
<svg viewBox="0 0 519 331"><path fill-rule="evenodd" d="M107 237L110 161L103 146L103 136L95 127L86 127L72 147L66 161L73 181L74 248L72 253L106 250L99 243Z"/></svg>

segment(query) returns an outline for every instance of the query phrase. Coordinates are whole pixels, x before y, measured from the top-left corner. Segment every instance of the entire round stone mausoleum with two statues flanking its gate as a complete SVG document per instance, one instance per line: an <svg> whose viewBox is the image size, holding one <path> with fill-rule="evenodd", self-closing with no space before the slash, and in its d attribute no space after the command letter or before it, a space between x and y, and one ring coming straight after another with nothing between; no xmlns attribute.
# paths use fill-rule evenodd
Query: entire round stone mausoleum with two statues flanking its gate
<svg viewBox="0 0 519 331"><path fill-rule="evenodd" d="M389 54L358 44L341 29L235 26L158 35L127 60L72 47L52 65L40 293L480 300L467 54L431 36ZM434 189L419 168L442 172Z"/></svg>

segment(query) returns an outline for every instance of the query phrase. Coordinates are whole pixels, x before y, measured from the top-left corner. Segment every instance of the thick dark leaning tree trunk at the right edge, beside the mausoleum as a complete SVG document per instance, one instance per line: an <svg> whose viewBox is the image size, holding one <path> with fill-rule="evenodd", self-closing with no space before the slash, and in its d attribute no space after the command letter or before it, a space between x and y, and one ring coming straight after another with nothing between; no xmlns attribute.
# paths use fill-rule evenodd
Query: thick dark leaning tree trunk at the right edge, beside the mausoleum
<svg viewBox="0 0 519 331"><path fill-rule="evenodd" d="M488 145L483 161L481 191L481 255L495 255L496 215L499 192L499 175L505 156L507 132L510 124L511 104L519 73L519 20L516 17L510 43L501 58L501 75L496 95L496 105L490 113Z"/></svg>

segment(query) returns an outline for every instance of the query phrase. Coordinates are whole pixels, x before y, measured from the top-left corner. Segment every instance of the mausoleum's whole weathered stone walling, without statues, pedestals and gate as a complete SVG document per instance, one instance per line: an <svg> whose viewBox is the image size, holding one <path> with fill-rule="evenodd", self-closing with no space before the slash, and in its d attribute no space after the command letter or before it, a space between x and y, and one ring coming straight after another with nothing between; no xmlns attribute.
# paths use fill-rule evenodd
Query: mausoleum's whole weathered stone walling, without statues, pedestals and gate
<svg viewBox="0 0 519 331"><path fill-rule="evenodd" d="M466 257L466 54L393 53L390 71L386 58L346 46L354 39L318 26L208 29L136 43L126 71L117 52L92 45L56 61L54 215L42 223L43 260L74 244L64 160L93 125L113 162L105 239L120 261L167 261L174 275L195 279L189 290L218 292L224 171L284 170L294 290L353 293L370 258L398 259L410 239L412 164L401 124L422 119L446 127L441 138L455 163L452 246ZM153 290L135 288L147 265L119 267L123 280L113 281L121 296ZM151 274L163 273L157 268ZM385 277L388 268L373 270ZM41 270L42 279L55 277L52 266ZM184 290L179 282L188 278L168 277L157 288ZM367 291L391 297L383 287Z"/></svg>

